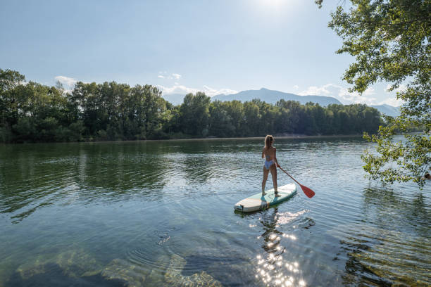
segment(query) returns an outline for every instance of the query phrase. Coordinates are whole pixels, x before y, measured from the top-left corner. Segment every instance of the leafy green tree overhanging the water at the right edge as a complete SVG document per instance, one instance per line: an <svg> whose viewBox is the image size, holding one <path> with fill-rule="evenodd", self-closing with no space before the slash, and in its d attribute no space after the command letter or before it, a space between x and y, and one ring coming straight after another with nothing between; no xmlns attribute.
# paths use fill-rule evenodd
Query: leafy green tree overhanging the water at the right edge
<svg viewBox="0 0 431 287"><path fill-rule="evenodd" d="M321 6L323 0L316 0ZM370 84L388 82L404 101L399 117L385 117L375 135L377 154L362 158L370 179L383 182L415 181L423 186L423 174L431 162L431 1L351 0L351 8L338 6L329 23L343 40L337 53L349 53L354 63L344 73L362 93ZM403 89L405 87L405 89ZM409 134L411 129L420 134ZM395 134L405 139L394 141Z"/></svg>

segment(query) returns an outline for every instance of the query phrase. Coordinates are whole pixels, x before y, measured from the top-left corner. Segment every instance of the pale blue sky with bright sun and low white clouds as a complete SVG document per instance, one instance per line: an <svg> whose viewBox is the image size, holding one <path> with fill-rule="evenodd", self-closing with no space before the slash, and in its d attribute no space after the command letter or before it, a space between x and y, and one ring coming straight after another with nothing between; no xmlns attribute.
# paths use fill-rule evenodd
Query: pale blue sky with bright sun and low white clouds
<svg viewBox="0 0 431 287"><path fill-rule="evenodd" d="M386 83L351 94L352 62L327 27L339 1L1 1L0 68L28 80L154 84L165 94L246 89L389 103ZM401 87L402 88L402 87Z"/></svg>

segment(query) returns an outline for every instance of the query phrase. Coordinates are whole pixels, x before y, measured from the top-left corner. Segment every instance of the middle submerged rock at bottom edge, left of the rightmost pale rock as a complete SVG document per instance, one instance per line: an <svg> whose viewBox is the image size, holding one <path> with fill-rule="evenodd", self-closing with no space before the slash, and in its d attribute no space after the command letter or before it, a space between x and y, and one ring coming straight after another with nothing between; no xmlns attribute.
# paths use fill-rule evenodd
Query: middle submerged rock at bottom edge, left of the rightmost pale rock
<svg viewBox="0 0 431 287"><path fill-rule="evenodd" d="M126 286L139 287L144 286L147 269L132 264L122 259L112 260L101 272L101 275L107 280L121 280Z"/></svg>

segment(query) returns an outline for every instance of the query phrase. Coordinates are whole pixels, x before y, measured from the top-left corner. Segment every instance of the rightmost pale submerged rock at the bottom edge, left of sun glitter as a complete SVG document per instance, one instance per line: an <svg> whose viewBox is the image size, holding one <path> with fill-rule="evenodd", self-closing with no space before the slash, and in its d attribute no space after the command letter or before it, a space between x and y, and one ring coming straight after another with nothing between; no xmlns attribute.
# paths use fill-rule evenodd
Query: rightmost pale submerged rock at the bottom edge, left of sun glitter
<svg viewBox="0 0 431 287"><path fill-rule="evenodd" d="M181 274L186 265L186 260L179 255L173 255L170 258L168 270L165 273L165 283L169 286L181 287L221 287L221 283L213 278L210 274L202 271L191 276Z"/></svg>

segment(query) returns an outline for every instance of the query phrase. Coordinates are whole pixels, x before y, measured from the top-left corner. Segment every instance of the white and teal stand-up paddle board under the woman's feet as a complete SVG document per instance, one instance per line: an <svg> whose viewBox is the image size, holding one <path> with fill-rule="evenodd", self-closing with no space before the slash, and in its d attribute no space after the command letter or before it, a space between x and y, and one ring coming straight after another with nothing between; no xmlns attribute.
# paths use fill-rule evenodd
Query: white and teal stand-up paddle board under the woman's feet
<svg viewBox="0 0 431 287"><path fill-rule="evenodd" d="M285 201L296 193L296 184L286 184L285 186L278 186L278 194L279 197L275 197L274 189L270 189L269 191L265 191L266 195L262 196L262 193L257 193L254 196L250 196L249 198L245 198L241 201L238 201L234 208L235 210L239 210L242 212L253 212L256 210L264 210L269 208L271 205L275 205L277 203L281 203Z"/></svg>

